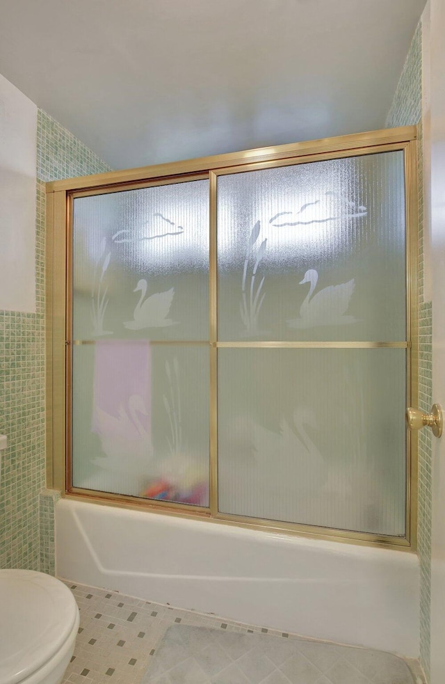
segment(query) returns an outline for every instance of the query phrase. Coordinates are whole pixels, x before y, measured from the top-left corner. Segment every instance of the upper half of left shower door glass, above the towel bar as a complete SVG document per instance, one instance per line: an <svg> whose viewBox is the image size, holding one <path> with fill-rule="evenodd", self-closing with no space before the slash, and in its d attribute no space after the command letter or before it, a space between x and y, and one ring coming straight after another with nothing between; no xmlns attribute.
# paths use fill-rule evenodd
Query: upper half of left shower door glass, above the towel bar
<svg viewBox="0 0 445 684"><path fill-rule="evenodd" d="M209 182L74 200L74 339L209 337Z"/></svg>

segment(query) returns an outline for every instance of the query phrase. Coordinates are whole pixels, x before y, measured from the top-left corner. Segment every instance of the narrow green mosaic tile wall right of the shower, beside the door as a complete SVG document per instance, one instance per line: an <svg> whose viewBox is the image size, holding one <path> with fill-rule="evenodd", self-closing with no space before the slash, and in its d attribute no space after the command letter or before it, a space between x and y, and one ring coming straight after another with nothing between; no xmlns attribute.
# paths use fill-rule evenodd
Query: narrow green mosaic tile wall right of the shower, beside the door
<svg viewBox="0 0 445 684"><path fill-rule="evenodd" d="M422 160L422 33L421 24L407 55L398 82L387 127L416 124L419 133L419 408L429 411L432 404L432 311L423 297L423 160ZM430 584L431 584L431 433L419 435L419 523L418 552L420 584L421 665L430 681Z"/></svg>

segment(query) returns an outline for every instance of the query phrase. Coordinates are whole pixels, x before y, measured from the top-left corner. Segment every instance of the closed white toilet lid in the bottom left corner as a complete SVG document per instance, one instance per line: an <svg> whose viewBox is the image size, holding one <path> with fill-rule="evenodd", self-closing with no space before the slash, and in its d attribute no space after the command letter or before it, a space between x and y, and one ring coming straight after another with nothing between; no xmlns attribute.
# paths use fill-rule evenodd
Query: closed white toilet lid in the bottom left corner
<svg viewBox="0 0 445 684"><path fill-rule="evenodd" d="M65 584L31 570L0 570L0 682L42 667L70 636L78 608Z"/></svg>

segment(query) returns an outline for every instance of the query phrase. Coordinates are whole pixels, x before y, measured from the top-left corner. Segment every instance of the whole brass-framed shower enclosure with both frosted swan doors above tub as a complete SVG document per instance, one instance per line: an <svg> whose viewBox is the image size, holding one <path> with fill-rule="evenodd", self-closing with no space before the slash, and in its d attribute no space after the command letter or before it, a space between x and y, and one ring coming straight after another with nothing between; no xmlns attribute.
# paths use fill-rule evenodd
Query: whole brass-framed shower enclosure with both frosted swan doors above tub
<svg viewBox="0 0 445 684"><path fill-rule="evenodd" d="M48 184L54 486L414 546L415 137Z"/></svg>

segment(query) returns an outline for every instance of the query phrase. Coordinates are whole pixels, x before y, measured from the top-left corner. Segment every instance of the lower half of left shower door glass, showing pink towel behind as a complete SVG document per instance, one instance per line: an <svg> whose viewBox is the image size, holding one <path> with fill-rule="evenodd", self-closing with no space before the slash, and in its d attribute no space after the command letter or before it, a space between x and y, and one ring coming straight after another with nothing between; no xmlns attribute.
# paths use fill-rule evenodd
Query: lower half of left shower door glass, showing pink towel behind
<svg viewBox="0 0 445 684"><path fill-rule="evenodd" d="M209 505L209 349L73 349L73 485Z"/></svg>

